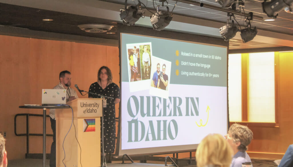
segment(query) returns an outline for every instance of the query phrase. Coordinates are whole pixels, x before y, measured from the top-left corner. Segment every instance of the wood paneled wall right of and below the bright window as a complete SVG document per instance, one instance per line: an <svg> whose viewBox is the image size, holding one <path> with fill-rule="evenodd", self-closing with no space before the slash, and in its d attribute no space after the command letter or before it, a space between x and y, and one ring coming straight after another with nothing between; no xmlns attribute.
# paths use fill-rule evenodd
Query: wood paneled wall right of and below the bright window
<svg viewBox="0 0 293 167"><path fill-rule="evenodd" d="M279 53L278 112L279 127L249 127L253 140L248 146L251 157L281 159L289 144L293 144L293 52ZM264 83L265 84L265 83ZM276 105L277 106L277 105ZM265 114L265 111L263 111Z"/></svg>

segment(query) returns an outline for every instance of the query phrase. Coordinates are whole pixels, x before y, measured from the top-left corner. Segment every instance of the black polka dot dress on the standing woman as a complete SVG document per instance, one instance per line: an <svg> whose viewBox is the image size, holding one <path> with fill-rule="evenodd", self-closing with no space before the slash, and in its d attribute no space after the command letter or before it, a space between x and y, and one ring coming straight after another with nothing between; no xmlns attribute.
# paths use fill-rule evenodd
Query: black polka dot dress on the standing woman
<svg viewBox="0 0 293 167"><path fill-rule="evenodd" d="M108 97L113 97L114 99L120 99L120 89L115 83L110 83L105 89L95 82L91 84L88 92L93 92L96 94L101 94ZM98 95L88 94L88 97L101 98ZM115 102L114 99L107 99L107 108L104 110L104 150L105 153L113 154L115 150ZM101 136L102 136L102 117L101 117ZM102 152L102 140L101 142L101 152Z"/></svg>

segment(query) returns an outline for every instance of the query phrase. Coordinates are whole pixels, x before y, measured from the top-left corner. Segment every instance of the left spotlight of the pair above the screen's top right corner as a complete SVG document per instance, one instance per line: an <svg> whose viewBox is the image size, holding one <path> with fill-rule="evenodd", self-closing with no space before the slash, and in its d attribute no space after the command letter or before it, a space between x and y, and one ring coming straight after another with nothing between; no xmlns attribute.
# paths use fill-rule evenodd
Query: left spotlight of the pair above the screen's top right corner
<svg viewBox="0 0 293 167"><path fill-rule="evenodd" d="M231 21L231 23L229 23L229 21ZM237 31L239 31L239 29L231 19L227 19L227 25L220 28L221 37L223 37L225 41L229 41L235 37Z"/></svg>

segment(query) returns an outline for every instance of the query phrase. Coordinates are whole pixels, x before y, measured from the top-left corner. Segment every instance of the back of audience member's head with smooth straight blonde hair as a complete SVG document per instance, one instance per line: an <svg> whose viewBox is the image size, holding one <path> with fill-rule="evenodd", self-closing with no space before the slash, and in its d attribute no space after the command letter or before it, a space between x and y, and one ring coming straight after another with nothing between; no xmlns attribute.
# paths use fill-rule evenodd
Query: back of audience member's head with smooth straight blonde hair
<svg viewBox="0 0 293 167"><path fill-rule="evenodd" d="M202 139L195 153L197 167L229 167L233 150L220 134L209 134Z"/></svg>

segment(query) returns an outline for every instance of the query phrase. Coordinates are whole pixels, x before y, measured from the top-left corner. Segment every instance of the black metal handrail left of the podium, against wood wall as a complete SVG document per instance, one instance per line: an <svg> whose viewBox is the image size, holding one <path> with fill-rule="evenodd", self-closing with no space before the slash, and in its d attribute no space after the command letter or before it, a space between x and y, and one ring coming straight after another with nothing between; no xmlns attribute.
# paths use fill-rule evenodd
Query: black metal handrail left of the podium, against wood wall
<svg viewBox="0 0 293 167"><path fill-rule="evenodd" d="M26 133L18 134L16 131L16 118L18 116L26 116ZM42 114L16 114L14 117L14 134L16 136L26 136L26 153L29 154L29 136L42 136L42 133L29 133L29 116L40 116L43 117ZM46 115L46 117L50 117L49 115ZM53 136L53 134L46 134L46 136Z"/></svg>

